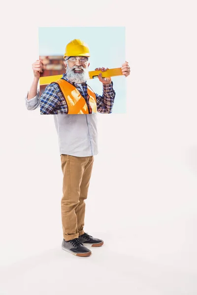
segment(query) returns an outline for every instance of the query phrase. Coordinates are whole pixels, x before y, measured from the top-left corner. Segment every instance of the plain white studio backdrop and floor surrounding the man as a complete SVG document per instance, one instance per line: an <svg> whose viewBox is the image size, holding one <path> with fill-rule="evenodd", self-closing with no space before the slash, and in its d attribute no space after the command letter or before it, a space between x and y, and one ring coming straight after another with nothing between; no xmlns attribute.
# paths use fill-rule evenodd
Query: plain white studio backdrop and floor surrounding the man
<svg viewBox="0 0 197 295"><path fill-rule="evenodd" d="M196 295L196 1L73 3L3 6L0 295ZM53 118L25 107L41 26L126 27L127 114L98 115L85 231L104 245L89 258L61 249Z"/></svg>

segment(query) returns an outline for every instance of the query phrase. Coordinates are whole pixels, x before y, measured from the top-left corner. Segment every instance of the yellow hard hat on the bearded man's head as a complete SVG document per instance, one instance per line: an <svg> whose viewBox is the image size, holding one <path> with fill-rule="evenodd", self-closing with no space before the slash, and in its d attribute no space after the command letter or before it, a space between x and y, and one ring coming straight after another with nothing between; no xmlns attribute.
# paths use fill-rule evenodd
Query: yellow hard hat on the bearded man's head
<svg viewBox="0 0 197 295"><path fill-rule="evenodd" d="M88 45L82 40L74 39L66 45L66 57L90 57L90 51Z"/></svg>

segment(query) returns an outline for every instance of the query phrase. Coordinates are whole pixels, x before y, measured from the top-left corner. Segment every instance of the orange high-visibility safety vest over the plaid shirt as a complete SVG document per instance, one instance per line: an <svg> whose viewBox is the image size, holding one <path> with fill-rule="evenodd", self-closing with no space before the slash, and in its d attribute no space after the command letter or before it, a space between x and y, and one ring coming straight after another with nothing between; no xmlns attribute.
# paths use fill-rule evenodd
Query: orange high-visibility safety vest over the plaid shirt
<svg viewBox="0 0 197 295"><path fill-rule="evenodd" d="M67 114L92 114L97 112L96 94L88 86L89 105L74 85L64 79L57 80L60 89L65 97L68 112Z"/></svg>

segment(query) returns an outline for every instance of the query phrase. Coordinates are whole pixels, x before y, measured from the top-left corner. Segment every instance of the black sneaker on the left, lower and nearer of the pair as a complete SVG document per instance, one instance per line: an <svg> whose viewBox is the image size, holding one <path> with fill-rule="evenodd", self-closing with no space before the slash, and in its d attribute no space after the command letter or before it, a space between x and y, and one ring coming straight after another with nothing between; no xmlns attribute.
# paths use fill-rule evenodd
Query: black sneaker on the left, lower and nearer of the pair
<svg viewBox="0 0 197 295"><path fill-rule="evenodd" d="M92 252L88 248L86 248L85 246L83 246L82 243L80 243L78 238L74 238L70 241L66 241L65 239L63 239L62 249L72 253L73 255L81 257L90 256L92 254Z"/></svg>

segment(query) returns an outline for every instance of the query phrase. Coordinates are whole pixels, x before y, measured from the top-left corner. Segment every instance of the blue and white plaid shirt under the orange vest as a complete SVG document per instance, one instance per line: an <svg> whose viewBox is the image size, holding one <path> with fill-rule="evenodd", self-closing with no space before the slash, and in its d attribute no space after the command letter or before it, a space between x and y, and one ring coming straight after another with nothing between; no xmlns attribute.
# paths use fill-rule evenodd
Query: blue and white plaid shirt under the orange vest
<svg viewBox="0 0 197 295"><path fill-rule="evenodd" d="M66 74L63 74L63 77L61 79L64 79L70 83L70 81L66 78ZM85 98L86 103L89 103L87 84L81 84L83 91L76 83L73 82L72 85L74 85L76 89L79 90L80 94ZM97 93L95 94L97 100L97 112L102 114L110 114L112 112L115 97L113 82L111 82L110 84L103 84L102 96ZM66 100L58 84L51 83L45 88L44 92L40 96L40 114L67 114Z"/></svg>

